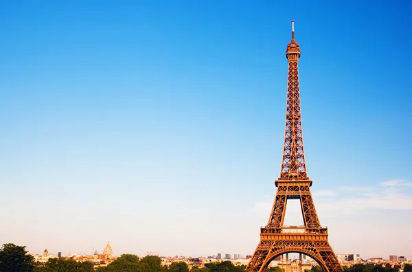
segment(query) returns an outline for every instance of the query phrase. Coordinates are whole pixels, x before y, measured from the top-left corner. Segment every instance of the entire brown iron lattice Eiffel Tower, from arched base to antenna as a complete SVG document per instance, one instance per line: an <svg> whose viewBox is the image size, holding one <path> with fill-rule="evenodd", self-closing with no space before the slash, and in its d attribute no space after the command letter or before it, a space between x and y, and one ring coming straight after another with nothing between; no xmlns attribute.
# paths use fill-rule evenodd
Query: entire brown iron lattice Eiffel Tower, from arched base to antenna
<svg viewBox="0 0 412 272"><path fill-rule="evenodd" d="M297 67L300 49L295 41L294 23L292 21L292 41L286 49L289 69L282 168L279 179L275 181L277 192L271 216L266 227L260 229L260 242L247 271L264 272L277 256L296 252L316 260L325 272L341 272L343 268L328 242L328 229L321 227L314 209L310 193L312 180L306 174ZM284 226L288 199L300 200L303 227Z"/></svg>

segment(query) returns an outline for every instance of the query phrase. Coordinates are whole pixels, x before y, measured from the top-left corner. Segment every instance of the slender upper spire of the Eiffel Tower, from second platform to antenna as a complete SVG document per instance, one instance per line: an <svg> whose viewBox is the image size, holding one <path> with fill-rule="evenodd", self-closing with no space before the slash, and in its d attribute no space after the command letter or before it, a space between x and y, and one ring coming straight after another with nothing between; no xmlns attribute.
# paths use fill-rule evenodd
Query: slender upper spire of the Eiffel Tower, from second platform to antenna
<svg viewBox="0 0 412 272"><path fill-rule="evenodd" d="M292 21L292 41L288 43L288 95L286 98L286 128L282 168L278 181L308 180L306 174L304 138L302 135L299 94L299 44L295 41L295 21Z"/></svg>

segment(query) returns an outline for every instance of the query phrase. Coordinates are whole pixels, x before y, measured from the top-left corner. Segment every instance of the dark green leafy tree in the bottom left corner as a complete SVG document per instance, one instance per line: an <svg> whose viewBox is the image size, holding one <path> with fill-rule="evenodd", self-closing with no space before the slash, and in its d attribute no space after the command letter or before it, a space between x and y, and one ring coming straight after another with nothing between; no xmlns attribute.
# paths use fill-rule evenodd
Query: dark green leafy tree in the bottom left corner
<svg viewBox="0 0 412 272"><path fill-rule="evenodd" d="M34 269L34 258L25 246L14 244L3 244L0 249L0 271L1 272L32 272Z"/></svg>

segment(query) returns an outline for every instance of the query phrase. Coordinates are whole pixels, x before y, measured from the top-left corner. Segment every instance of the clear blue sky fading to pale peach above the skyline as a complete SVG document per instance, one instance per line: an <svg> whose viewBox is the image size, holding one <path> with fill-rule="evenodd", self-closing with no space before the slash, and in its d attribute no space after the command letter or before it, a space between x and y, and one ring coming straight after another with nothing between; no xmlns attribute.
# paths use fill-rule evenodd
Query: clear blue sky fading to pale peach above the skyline
<svg viewBox="0 0 412 272"><path fill-rule="evenodd" d="M306 165L330 243L412 258L411 10L2 1L0 243L253 253L279 177L295 19Z"/></svg>

